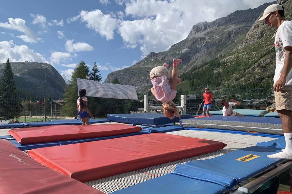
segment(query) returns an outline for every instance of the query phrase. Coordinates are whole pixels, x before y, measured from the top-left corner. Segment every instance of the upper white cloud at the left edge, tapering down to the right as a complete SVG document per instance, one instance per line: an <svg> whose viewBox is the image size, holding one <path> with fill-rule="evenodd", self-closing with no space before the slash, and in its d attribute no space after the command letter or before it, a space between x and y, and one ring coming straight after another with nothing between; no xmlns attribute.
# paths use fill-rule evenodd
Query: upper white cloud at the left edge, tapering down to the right
<svg viewBox="0 0 292 194"><path fill-rule="evenodd" d="M9 18L8 21L9 23L0 22L0 27L10 29L10 30L16 30L16 31L24 33L25 35L19 35L16 37L21 38L25 42L36 43L41 40L41 38L36 37L36 35L31 29L25 26L25 20L21 18L15 18L15 19Z"/></svg>

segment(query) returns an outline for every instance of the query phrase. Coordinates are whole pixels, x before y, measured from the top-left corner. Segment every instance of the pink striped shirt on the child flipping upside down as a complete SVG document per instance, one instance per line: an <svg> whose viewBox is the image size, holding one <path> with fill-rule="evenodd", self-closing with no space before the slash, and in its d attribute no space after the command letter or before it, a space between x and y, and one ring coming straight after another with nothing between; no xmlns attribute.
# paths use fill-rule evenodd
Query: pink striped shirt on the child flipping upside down
<svg viewBox="0 0 292 194"><path fill-rule="evenodd" d="M165 75L151 80L155 92L155 97L161 102L170 102L175 96L175 90L171 89L170 83Z"/></svg>

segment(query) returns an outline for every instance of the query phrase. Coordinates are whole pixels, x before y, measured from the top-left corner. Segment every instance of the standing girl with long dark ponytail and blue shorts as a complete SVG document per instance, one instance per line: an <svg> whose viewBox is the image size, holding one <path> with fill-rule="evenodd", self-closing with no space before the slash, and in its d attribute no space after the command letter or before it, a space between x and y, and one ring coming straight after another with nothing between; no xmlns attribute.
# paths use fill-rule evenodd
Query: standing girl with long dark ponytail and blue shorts
<svg viewBox="0 0 292 194"><path fill-rule="evenodd" d="M79 117L82 120L82 125L89 125L89 117L93 118L93 115L91 114L87 107L87 98L85 97L86 90L80 89L79 96L80 97L77 99L77 111Z"/></svg>

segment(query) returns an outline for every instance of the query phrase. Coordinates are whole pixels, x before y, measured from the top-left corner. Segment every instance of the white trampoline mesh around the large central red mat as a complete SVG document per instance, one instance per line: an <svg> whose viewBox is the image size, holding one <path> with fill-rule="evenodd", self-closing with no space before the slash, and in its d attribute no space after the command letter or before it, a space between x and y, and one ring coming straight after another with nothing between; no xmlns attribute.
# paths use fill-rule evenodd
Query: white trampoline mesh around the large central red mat
<svg viewBox="0 0 292 194"><path fill-rule="evenodd" d="M173 131L168 132L167 134L222 141L223 143L227 144L227 146L224 149L220 149L218 151L211 152L208 154L173 161L161 165L151 166L140 170L134 170L131 172L126 172L123 174L114 175L103 179L89 181L86 182L85 184L92 186L93 188L96 188L104 193L112 193L114 191L118 191L120 189L173 172L177 164L186 163L192 160L205 160L215 158L217 156L227 154L237 149L254 146L258 142L270 141L275 139L260 136L191 130Z"/></svg>

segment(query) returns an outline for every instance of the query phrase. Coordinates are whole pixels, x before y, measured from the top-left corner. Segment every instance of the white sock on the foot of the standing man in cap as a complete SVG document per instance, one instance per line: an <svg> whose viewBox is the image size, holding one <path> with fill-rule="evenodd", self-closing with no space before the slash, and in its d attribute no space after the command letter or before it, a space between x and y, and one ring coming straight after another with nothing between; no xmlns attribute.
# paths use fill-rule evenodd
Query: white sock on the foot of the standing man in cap
<svg viewBox="0 0 292 194"><path fill-rule="evenodd" d="M292 133L284 133L286 147L283 152L268 155L269 158L278 158L283 160L292 160Z"/></svg>

